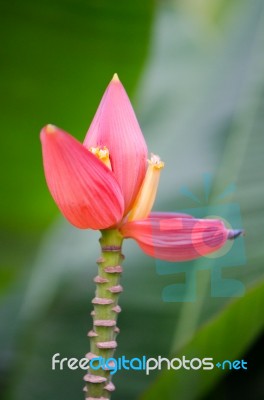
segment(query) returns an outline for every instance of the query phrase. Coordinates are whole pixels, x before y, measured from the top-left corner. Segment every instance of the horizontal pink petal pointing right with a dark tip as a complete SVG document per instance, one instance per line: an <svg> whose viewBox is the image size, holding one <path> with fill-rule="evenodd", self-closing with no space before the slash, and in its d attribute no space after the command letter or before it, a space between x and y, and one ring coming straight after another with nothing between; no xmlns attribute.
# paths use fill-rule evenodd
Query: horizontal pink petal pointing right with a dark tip
<svg viewBox="0 0 264 400"><path fill-rule="evenodd" d="M151 257L167 261L187 261L220 249L229 231L220 220L172 217L154 213L144 220L127 222L121 227L126 238L137 241ZM158 217L161 216L161 218Z"/></svg>

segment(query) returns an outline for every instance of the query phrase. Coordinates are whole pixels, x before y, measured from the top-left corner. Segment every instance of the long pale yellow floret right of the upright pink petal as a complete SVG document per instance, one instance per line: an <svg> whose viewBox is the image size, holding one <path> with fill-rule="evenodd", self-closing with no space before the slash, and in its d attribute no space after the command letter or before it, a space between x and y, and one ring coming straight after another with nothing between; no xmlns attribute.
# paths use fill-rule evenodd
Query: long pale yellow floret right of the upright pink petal
<svg viewBox="0 0 264 400"><path fill-rule="evenodd" d="M159 184L160 172L164 168L164 162L160 161L159 156L151 154L148 160L148 169L138 192L137 198L129 213L128 221L135 221L146 218L154 204Z"/></svg>

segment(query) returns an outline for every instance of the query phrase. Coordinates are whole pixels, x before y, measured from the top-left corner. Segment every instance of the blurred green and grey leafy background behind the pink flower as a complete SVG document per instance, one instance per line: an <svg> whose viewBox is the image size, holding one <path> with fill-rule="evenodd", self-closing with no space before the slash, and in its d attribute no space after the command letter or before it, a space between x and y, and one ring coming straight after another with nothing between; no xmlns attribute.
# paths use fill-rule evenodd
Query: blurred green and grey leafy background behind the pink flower
<svg viewBox="0 0 264 400"><path fill-rule="evenodd" d="M113 398L263 399L263 0L1 1L0 32L1 399L83 396L82 371L52 371L51 357L89 349L99 235L59 216L39 131L54 123L82 140L114 72L166 163L155 209L195 208L180 188L201 198L211 174L209 204L235 185L223 204L240 205L247 232L246 263L223 272L244 295L212 296L209 269L193 302L164 302L184 274L158 275L125 243L116 356L244 358L249 369L121 371Z"/></svg>

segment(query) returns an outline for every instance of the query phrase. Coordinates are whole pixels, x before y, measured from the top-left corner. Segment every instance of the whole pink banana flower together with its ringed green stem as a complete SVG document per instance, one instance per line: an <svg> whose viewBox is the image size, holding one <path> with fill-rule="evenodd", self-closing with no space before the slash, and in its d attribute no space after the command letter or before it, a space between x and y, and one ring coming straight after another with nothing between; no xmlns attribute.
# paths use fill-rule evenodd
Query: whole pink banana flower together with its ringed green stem
<svg viewBox="0 0 264 400"><path fill-rule="evenodd" d="M185 261L220 249L241 230L222 221L151 212L164 163L151 154L118 76L107 87L83 144L47 125L41 131L44 171L51 195L64 217L80 229L101 231L93 329L88 360L112 357L117 347L122 241L136 240L148 255ZM86 398L109 399L109 370L89 369Z"/></svg>

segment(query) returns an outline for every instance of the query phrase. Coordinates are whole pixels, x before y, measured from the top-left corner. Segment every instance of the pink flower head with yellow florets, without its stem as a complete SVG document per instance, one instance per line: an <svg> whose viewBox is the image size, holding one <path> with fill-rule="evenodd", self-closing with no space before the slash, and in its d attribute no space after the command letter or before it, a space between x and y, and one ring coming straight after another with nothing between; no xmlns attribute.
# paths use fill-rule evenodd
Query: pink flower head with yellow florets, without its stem
<svg viewBox="0 0 264 400"><path fill-rule="evenodd" d="M184 261L212 253L242 231L222 221L151 212L164 163L147 146L115 74L81 144L53 125L41 131L47 185L81 229L118 229L148 255Z"/></svg>

